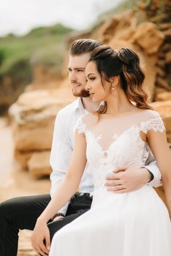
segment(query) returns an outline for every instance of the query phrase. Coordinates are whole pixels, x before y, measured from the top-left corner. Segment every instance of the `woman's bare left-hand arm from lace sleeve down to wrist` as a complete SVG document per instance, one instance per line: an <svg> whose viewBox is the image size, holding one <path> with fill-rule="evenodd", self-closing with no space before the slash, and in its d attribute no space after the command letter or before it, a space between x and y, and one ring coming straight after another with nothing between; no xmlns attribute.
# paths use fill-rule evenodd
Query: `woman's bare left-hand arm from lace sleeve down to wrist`
<svg viewBox="0 0 171 256"><path fill-rule="evenodd" d="M64 180L59 184L53 199L50 200L39 219L44 219L47 222L75 194L85 167L86 138L84 133L79 134L76 131L75 146L66 176L64 176Z"/></svg>

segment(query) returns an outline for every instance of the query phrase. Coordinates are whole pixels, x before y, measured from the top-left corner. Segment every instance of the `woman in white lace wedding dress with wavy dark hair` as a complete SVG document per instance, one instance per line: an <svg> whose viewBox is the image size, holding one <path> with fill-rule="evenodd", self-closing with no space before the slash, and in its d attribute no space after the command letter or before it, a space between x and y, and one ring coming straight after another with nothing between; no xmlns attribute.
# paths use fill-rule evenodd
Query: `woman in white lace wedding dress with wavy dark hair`
<svg viewBox="0 0 171 256"><path fill-rule="evenodd" d="M94 178L93 203L86 214L56 233L50 256L171 255L171 192L166 195L167 211L148 184L124 193L104 187L111 170L121 165L142 167L152 151L164 187L171 188L171 157L164 124L146 103L144 78L133 50L121 48L116 52L103 45L91 53L86 89L94 102L103 101L104 105L99 112L77 121L68 171L37 220L32 239L75 193L87 161Z"/></svg>

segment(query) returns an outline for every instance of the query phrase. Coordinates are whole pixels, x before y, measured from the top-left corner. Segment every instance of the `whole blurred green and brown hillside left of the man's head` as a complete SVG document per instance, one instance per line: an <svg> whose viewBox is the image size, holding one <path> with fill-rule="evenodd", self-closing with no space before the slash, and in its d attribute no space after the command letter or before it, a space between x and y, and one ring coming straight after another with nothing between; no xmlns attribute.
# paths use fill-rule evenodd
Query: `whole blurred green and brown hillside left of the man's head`
<svg viewBox="0 0 171 256"><path fill-rule="evenodd" d="M31 82L33 64L55 67L54 75L60 76L66 50L64 39L70 31L57 24L33 29L23 37L9 34L0 38L0 114Z"/></svg>

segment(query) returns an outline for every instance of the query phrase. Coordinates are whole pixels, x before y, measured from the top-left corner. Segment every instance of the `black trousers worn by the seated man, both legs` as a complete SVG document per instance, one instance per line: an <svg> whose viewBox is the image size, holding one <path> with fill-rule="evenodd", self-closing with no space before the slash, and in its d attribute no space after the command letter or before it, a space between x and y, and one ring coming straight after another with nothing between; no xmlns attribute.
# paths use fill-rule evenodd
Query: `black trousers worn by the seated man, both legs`
<svg viewBox="0 0 171 256"><path fill-rule="evenodd" d="M16 256L18 253L19 230L34 230L37 218L50 201L50 195L16 197L0 204L0 255ZM89 195L76 193L66 212L66 217L59 221L49 221L50 239L53 235L91 208Z"/></svg>

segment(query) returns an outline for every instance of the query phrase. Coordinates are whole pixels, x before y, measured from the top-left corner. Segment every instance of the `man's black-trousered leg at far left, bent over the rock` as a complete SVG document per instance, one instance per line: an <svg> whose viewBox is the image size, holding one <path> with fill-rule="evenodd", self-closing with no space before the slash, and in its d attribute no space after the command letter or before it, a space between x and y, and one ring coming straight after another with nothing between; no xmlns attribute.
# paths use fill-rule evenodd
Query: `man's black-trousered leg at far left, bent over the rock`
<svg viewBox="0 0 171 256"><path fill-rule="evenodd" d="M33 230L50 195L16 197L0 203L0 255L16 256L19 230Z"/></svg>

